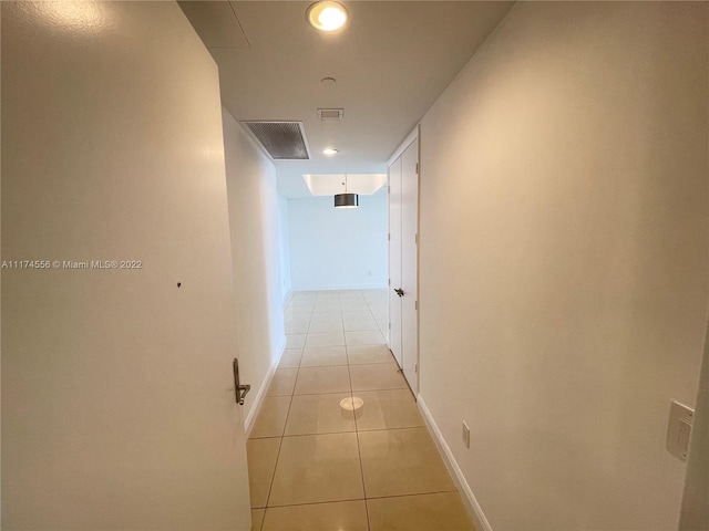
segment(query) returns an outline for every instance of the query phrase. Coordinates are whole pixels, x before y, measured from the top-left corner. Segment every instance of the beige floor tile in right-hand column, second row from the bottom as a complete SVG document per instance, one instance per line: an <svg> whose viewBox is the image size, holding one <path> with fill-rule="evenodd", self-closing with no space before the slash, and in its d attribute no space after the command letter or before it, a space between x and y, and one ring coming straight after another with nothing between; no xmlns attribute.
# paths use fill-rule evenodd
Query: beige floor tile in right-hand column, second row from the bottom
<svg viewBox="0 0 709 531"><path fill-rule="evenodd" d="M427 428L359 431L367 498L453 491Z"/></svg>

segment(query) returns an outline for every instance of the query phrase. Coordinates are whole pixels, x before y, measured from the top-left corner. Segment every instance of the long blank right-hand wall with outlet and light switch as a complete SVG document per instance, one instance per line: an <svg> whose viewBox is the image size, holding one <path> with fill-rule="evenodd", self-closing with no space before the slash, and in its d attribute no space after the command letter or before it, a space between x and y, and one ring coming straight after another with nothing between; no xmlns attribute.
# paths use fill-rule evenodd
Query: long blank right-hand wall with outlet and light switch
<svg viewBox="0 0 709 531"><path fill-rule="evenodd" d="M677 525L707 10L520 2L422 121L421 396L495 531Z"/></svg>

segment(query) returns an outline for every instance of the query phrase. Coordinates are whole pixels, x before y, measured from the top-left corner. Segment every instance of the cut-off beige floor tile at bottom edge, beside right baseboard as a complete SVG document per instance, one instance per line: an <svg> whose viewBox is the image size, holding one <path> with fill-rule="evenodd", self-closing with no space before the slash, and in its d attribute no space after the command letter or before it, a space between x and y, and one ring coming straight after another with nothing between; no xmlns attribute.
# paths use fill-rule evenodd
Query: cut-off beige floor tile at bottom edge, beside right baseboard
<svg viewBox="0 0 709 531"><path fill-rule="evenodd" d="M371 531L475 531L458 492L367 500Z"/></svg>

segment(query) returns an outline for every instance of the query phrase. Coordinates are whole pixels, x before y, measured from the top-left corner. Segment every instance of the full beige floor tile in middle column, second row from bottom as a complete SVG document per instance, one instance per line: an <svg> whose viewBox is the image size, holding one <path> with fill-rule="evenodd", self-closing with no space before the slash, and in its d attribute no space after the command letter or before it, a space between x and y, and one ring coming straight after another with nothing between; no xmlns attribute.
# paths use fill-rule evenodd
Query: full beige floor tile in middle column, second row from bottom
<svg viewBox="0 0 709 531"><path fill-rule="evenodd" d="M268 507L363 497L356 434L284 437Z"/></svg>

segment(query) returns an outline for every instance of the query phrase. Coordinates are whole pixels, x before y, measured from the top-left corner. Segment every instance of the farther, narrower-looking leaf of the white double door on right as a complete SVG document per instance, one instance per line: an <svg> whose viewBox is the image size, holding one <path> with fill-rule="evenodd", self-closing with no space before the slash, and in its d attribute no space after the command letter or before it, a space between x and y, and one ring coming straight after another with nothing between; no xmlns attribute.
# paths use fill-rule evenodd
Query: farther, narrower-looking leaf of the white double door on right
<svg viewBox="0 0 709 531"><path fill-rule="evenodd" d="M389 167L389 348L399 367L401 355L401 157Z"/></svg>

